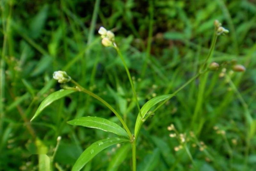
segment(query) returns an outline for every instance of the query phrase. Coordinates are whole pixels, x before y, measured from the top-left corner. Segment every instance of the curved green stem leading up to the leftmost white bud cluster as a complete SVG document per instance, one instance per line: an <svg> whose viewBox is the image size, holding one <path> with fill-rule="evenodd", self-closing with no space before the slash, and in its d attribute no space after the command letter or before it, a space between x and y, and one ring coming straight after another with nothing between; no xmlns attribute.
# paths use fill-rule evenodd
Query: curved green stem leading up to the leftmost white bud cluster
<svg viewBox="0 0 256 171"><path fill-rule="evenodd" d="M117 111L110 105L108 104L108 102L106 102L105 100L103 100L101 97L97 96L96 94L92 93L91 91L88 91L87 89L85 89L84 87L82 87L80 84L78 84L77 82L75 82L74 80L71 80L71 82L73 82L77 87L79 91L83 91L84 93L96 98L97 100L99 100L101 103L103 103L105 106L107 106L115 115L116 117L120 120L120 122L122 123L122 125L124 126L124 129L126 130L126 132L128 133L130 139L133 139L132 133L129 130L128 126L125 124L123 118L117 113Z"/></svg>

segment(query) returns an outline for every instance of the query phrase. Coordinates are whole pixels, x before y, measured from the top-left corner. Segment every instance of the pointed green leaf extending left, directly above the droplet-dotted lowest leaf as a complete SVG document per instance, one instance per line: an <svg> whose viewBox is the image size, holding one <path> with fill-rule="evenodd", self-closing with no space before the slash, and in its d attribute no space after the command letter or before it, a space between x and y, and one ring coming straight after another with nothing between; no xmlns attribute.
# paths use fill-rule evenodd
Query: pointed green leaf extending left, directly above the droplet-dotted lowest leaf
<svg viewBox="0 0 256 171"><path fill-rule="evenodd" d="M119 136L129 138L129 135L127 134L126 131L124 131L124 129L121 126L117 125L114 122L109 121L108 119L104 119L100 117L88 116L88 117L77 118L77 119L68 121L68 124L80 125L80 126L85 126L89 128L96 128L103 131L115 133L116 135L119 135Z"/></svg>

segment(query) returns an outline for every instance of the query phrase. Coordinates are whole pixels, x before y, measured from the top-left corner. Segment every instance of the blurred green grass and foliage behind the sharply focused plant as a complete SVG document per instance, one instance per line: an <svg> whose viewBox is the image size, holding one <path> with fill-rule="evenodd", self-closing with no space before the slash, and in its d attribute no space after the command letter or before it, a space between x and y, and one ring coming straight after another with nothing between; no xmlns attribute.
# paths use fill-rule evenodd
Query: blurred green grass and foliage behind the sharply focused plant
<svg viewBox="0 0 256 171"><path fill-rule="evenodd" d="M204 88L198 78L161 107L142 128L138 170L256 170L255 0L0 3L0 170L38 170L36 146L41 143L52 155L58 136L62 140L53 169L71 170L87 146L113 136L66 123L99 116L119 124L110 110L82 93L54 102L29 122L40 102L61 88L52 79L57 70L101 96L134 127L138 110L128 77L115 50L101 45L100 26L115 33L142 106L154 96L174 92L197 73L209 52L215 19L229 34L218 38L212 61L236 60L246 71L230 76L236 89L219 77L220 70L210 72ZM187 137L191 131L196 135L198 141L187 142L192 161L184 148L174 150L179 141L169 137L170 124ZM108 165L120 155L119 148L104 150L84 170L111 170ZM129 150L114 170L131 170Z"/></svg>

